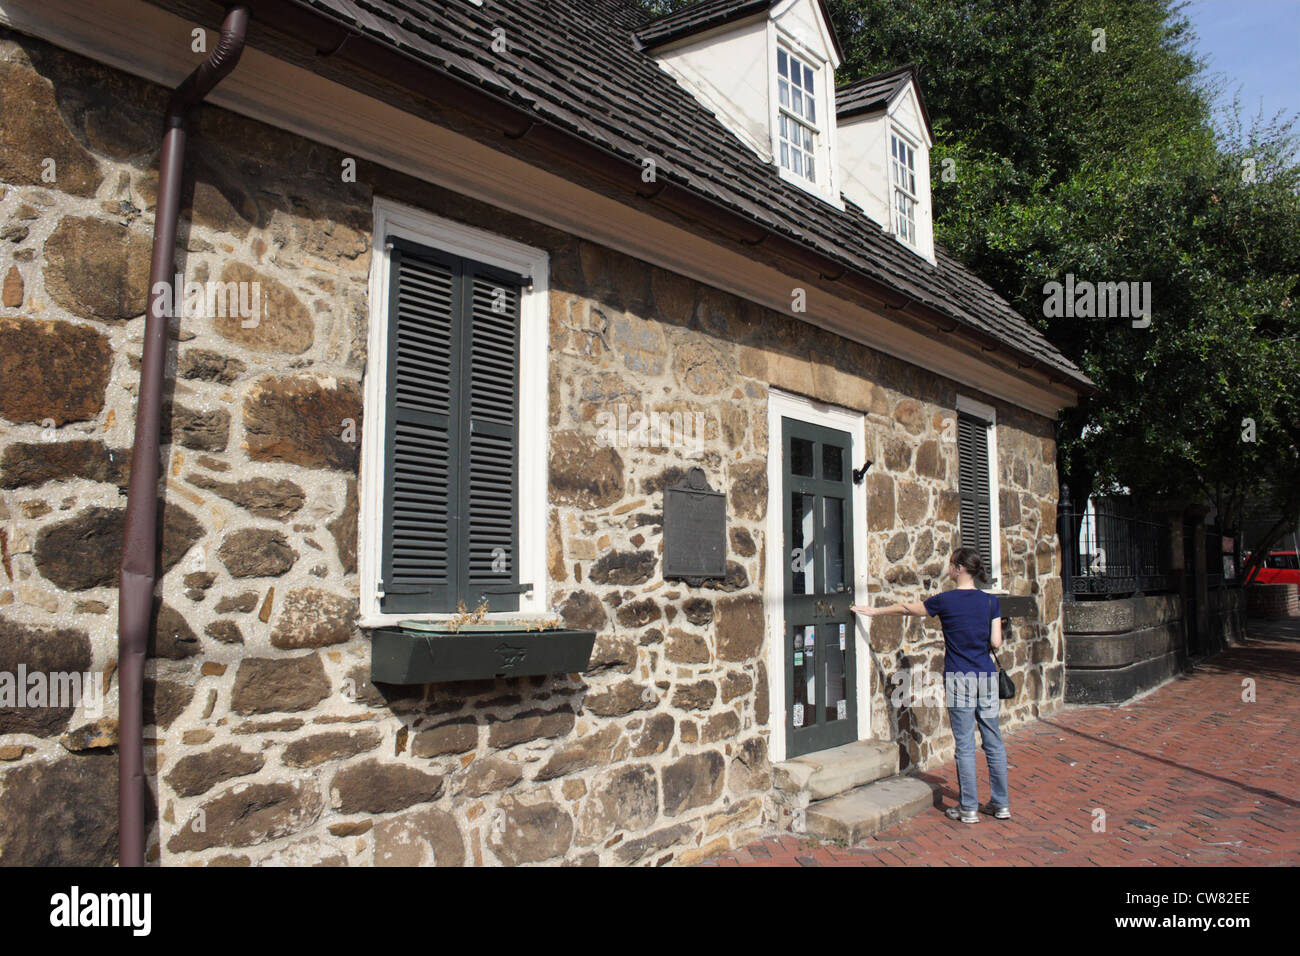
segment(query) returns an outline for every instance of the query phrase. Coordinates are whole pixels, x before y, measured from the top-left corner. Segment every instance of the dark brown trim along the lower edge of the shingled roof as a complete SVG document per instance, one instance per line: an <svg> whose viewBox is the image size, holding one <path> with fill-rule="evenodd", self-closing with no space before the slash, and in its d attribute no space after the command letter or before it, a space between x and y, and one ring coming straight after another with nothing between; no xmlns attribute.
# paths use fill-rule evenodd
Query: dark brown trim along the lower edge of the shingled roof
<svg viewBox="0 0 1300 956"><path fill-rule="evenodd" d="M157 1L157 0L155 0ZM389 83L410 91L420 99L439 104L455 104L455 109L489 125L502 135L526 140L563 164L576 168L589 178L595 177L629 199L636 196L653 202L693 222L701 233L710 232L732 242L763 246L785 263L814 272L829 286L837 284L853 290L871 307L887 310L883 315L906 313L927 323L936 330L952 333L980 346L983 352L996 351L1008 356L1018 368L1032 368L1046 380L1063 385L1079 395L1097 390L1096 385L1072 364L1060 367L1028 349L998 338L984 329L956 320L953 316L901 291L883 278L876 278L857 268L801 242L797 237L755 221L737 209L703 195L690 186L660 177L650 189L641 183L641 166L614 150L592 142L541 117L536 111L484 90L460 77L434 69L412 51L395 47L369 35L342 20L309 5L309 0L244 0L254 9L255 23L273 26L290 40L313 47L318 56L342 60L365 73L381 77ZM256 40L256 36L254 38ZM580 179L575 179L580 181ZM1027 359L1028 362L1024 362ZM1067 362L1063 359L1063 362Z"/></svg>

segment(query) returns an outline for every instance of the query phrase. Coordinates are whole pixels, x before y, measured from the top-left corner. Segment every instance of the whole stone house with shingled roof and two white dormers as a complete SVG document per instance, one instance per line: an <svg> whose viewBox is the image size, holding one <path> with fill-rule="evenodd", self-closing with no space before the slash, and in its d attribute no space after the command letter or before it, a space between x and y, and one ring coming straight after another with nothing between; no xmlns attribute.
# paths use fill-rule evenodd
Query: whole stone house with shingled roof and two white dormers
<svg viewBox="0 0 1300 956"><path fill-rule="evenodd" d="M935 245L914 70L836 90L812 0L244 7L183 164L148 861L686 865L842 832L838 795L953 753L941 701L898 695L941 669L935 622L848 605L946 587L962 538L1022 598L1004 724L1062 705L1053 420L1092 385ZM90 675L0 696L4 864L116 858L161 118L225 16L0 7L0 674ZM666 579L696 467L725 571ZM451 568L422 589L398 480L442 529L413 561ZM594 631L588 666L372 682L376 628L473 606L485 555L514 585L489 619Z"/></svg>

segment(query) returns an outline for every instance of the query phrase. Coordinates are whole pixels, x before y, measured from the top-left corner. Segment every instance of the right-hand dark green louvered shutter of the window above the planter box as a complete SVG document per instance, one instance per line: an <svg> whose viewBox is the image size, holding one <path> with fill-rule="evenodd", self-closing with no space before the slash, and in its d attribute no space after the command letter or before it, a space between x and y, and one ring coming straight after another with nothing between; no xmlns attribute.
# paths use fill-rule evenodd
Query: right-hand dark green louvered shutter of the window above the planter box
<svg viewBox="0 0 1300 956"><path fill-rule="evenodd" d="M519 610L519 298L526 278L465 263L462 540L464 601Z"/></svg>

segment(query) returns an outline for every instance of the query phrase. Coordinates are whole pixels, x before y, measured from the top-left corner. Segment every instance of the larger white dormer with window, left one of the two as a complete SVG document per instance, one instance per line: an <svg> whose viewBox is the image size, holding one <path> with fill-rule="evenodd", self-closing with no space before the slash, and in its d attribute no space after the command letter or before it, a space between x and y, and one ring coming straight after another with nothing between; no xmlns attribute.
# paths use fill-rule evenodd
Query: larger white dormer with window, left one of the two
<svg viewBox="0 0 1300 956"><path fill-rule="evenodd" d="M818 0L772 3L658 47L654 56L786 182L844 208L835 122L840 57Z"/></svg>

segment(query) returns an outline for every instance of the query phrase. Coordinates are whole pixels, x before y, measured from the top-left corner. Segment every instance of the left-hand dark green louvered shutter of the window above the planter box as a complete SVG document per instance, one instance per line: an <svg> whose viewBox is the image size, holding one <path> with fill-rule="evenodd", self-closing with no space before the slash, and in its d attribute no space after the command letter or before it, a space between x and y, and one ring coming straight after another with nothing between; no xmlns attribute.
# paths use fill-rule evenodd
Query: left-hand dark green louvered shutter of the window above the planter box
<svg viewBox="0 0 1300 956"><path fill-rule="evenodd" d="M452 356L460 267L454 256L399 241L390 256L380 609L451 610L458 592L460 397Z"/></svg>

